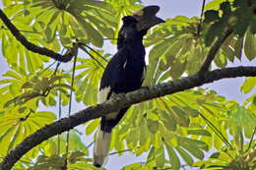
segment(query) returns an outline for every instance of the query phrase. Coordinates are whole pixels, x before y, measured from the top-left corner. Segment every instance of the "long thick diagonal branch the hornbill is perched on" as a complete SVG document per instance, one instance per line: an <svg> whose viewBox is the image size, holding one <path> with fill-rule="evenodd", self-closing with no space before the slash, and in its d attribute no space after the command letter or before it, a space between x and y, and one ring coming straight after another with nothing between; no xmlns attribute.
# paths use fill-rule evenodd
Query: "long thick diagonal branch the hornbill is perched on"
<svg viewBox="0 0 256 170"><path fill-rule="evenodd" d="M149 86L141 88L127 94L118 94L113 99L107 100L102 104L89 107L78 113L73 114L69 118L63 118L50 125L46 125L42 129L38 130L30 137L25 139L14 150L11 150L9 154L0 163L0 170L9 170L12 166L32 147L40 142L46 141L49 138L68 131L78 125L81 125L92 119L96 119L102 115L106 115L110 112L117 111L120 108L127 107L131 104L139 103L149 99L157 98L167 94L172 94L178 91L190 89L195 86L209 84L214 81L236 78L236 77L255 77L256 67L235 67L225 68L221 70L215 70L206 72L203 75L194 75L191 77L183 78L174 82L168 82L160 85Z"/></svg>

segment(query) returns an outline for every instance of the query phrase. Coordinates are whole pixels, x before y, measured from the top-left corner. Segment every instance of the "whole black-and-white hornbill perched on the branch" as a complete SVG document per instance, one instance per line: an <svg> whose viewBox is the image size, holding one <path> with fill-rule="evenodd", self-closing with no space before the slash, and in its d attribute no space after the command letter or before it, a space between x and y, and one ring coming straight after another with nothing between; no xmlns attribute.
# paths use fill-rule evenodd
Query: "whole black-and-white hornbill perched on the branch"
<svg viewBox="0 0 256 170"><path fill-rule="evenodd" d="M163 20L156 17L160 7L148 6L133 16L123 17L123 25L118 33L117 53L106 66L99 85L98 100L103 102L116 93L126 93L141 87L146 71L143 36ZM94 165L102 166L108 155L111 130L124 116L127 108L101 117L96 132Z"/></svg>

